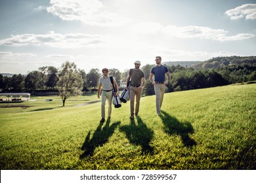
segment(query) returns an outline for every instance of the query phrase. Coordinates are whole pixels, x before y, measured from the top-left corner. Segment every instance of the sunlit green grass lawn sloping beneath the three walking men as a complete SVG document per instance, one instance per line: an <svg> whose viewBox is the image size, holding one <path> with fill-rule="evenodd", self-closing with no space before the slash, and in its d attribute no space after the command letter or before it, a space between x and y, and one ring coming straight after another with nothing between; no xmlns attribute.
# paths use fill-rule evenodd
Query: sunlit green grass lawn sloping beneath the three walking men
<svg viewBox="0 0 256 183"><path fill-rule="evenodd" d="M1 169L255 169L256 84L142 97L100 124L96 95L0 104ZM26 107L27 106L27 107Z"/></svg>

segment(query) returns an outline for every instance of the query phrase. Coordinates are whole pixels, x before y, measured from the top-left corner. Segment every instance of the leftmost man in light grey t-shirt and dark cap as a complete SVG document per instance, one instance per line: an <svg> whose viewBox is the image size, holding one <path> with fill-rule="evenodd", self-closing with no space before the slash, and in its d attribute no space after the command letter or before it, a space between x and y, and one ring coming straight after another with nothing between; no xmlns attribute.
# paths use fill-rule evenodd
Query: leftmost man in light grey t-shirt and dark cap
<svg viewBox="0 0 256 183"><path fill-rule="evenodd" d="M100 84L98 85L98 99L100 99L100 91L102 89L100 122L105 121L105 105L106 105L107 99L108 99L108 118L110 119L111 111L112 111L112 97L113 97L113 85L110 81L110 76L108 76L108 69L106 68L102 69L102 74L103 76L100 77L99 79ZM118 86L114 77L113 77L113 83L116 91L118 91ZM117 96L117 93L114 93L114 95Z"/></svg>

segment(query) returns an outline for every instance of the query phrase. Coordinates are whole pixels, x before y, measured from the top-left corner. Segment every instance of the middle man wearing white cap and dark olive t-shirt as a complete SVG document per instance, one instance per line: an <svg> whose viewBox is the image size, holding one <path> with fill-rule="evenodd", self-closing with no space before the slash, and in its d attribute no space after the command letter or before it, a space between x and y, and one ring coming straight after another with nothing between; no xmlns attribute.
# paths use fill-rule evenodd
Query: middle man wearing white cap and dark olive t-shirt
<svg viewBox="0 0 256 183"><path fill-rule="evenodd" d="M139 113L142 88L146 82L144 72L140 70L140 61L135 61L134 64L135 64L135 69L130 69L129 74L126 78L127 90L128 90L129 81L131 80L131 84L129 87L131 119L134 119L134 114L137 116ZM135 96L136 96L136 107L134 108Z"/></svg>

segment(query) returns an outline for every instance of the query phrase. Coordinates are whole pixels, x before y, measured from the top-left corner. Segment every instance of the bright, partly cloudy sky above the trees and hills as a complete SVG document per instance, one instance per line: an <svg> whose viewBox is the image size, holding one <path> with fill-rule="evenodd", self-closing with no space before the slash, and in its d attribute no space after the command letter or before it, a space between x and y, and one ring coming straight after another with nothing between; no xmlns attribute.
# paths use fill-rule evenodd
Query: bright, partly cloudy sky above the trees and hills
<svg viewBox="0 0 256 183"><path fill-rule="evenodd" d="M0 73L256 55L256 0L0 0Z"/></svg>

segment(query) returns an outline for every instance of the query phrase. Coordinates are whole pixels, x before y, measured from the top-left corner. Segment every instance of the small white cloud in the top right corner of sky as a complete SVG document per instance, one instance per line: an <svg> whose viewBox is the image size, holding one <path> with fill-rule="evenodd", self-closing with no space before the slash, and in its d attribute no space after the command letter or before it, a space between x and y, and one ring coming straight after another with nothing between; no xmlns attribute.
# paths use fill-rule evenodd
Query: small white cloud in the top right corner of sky
<svg viewBox="0 0 256 183"><path fill-rule="evenodd" d="M245 4L240 7L236 7L225 12L231 20L237 20L240 18L245 18L247 20L256 19L256 4Z"/></svg>

